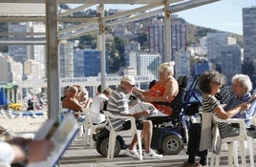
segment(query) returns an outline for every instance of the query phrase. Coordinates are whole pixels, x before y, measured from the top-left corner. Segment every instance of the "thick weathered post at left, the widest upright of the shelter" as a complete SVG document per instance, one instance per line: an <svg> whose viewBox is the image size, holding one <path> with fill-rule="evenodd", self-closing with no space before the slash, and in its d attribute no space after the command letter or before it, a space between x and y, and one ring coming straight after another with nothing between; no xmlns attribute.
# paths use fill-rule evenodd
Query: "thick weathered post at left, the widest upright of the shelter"
<svg viewBox="0 0 256 167"><path fill-rule="evenodd" d="M59 120L59 63L57 42L57 2L46 1L46 35L47 35L47 98L48 116Z"/></svg>

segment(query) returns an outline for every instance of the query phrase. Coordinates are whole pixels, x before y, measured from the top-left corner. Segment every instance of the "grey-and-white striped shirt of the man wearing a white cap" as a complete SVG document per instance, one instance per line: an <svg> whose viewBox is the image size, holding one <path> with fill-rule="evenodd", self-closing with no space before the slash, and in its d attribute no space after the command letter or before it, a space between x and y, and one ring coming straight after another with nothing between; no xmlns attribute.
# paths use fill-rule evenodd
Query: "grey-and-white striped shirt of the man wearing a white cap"
<svg viewBox="0 0 256 167"><path fill-rule="evenodd" d="M120 86L116 91L113 91L109 97L107 110L113 115L128 115L129 114L129 95L127 95ZM111 119L114 130L121 130L124 119Z"/></svg>

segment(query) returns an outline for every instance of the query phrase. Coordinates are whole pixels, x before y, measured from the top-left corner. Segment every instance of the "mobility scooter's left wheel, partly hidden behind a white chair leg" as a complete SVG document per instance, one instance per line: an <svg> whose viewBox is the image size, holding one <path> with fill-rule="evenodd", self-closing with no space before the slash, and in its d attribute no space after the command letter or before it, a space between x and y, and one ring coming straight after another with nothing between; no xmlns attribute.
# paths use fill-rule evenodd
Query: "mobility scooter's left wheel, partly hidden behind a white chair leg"
<svg viewBox="0 0 256 167"><path fill-rule="evenodd" d="M101 140L96 142L96 151L103 157L107 157L108 156L108 146L109 146L109 137L102 138ZM120 151L121 151L121 143L118 139L116 139L114 157L117 157L119 155Z"/></svg>

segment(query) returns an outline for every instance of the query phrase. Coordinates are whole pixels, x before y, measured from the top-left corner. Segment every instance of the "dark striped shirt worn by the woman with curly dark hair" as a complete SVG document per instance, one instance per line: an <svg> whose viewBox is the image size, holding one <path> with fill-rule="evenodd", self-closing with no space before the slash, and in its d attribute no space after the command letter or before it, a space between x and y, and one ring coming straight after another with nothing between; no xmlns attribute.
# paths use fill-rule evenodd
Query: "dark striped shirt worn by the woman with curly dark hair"
<svg viewBox="0 0 256 167"><path fill-rule="evenodd" d="M216 107L220 105L220 101L214 95L203 96L203 112L204 113L213 113ZM229 125L227 123L221 122L218 123L219 131L222 132Z"/></svg>

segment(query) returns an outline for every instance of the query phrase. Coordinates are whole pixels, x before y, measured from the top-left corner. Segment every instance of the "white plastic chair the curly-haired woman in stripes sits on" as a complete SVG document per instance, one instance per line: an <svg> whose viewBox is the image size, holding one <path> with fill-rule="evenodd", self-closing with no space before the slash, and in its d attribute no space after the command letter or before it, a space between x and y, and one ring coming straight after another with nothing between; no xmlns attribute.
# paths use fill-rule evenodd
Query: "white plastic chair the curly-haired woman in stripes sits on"
<svg viewBox="0 0 256 167"><path fill-rule="evenodd" d="M230 167L233 166L233 161L234 161L234 165L238 166L237 148L238 148L238 142L239 142L242 166L245 167L246 166L246 164L245 164L245 141L247 139L245 120L239 119L239 118L221 119L217 115L213 115L213 121L215 123L225 122L225 123L238 123L239 124L239 127L240 127L239 136L230 136L230 137L221 138L220 146L222 148L223 143L227 144L228 166L230 166ZM216 126L216 127L217 128L215 129L215 132L214 132L214 138L219 133L219 128L218 128L218 126ZM212 152L210 166L214 166L214 162L215 162L215 166L220 166L220 154L217 155Z"/></svg>

